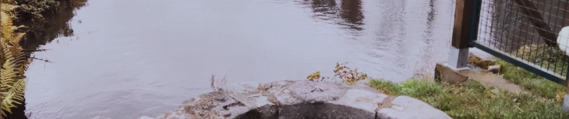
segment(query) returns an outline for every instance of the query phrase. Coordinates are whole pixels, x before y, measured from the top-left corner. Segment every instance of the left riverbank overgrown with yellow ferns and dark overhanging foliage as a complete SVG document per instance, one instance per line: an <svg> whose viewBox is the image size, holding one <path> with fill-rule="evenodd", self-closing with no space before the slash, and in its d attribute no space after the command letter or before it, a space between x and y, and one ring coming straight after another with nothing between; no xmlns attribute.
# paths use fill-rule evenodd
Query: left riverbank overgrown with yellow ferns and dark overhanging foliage
<svg viewBox="0 0 569 119"><path fill-rule="evenodd" d="M43 60L31 54L57 36L72 36L67 23L73 17L73 10L85 6L85 2L2 0L1 118L27 118L24 113L26 100L23 90L27 81L24 72L32 59Z"/></svg>

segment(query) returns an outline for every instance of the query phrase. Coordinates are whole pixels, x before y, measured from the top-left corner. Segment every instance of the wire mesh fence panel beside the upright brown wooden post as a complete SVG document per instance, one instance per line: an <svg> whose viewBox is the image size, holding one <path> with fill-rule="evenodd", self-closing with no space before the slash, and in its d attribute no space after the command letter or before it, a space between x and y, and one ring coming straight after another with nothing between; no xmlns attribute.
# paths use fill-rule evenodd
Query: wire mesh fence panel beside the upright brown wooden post
<svg viewBox="0 0 569 119"><path fill-rule="evenodd" d="M569 72L568 0L479 1L473 46L565 85Z"/></svg>

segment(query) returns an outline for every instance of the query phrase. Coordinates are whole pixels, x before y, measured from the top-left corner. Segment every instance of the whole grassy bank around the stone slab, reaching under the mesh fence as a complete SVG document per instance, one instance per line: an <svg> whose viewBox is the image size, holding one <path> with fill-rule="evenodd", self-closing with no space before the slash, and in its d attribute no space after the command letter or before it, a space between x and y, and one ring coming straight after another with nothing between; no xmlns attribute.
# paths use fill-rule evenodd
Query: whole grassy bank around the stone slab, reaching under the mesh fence
<svg viewBox="0 0 569 119"><path fill-rule="evenodd" d="M503 60L492 64L501 65L499 74L522 87L523 92L496 89L474 81L449 85L418 79L401 83L370 80L368 85L385 94L417 98L452 118L569 118L562 111L565 87Z"/></svg>

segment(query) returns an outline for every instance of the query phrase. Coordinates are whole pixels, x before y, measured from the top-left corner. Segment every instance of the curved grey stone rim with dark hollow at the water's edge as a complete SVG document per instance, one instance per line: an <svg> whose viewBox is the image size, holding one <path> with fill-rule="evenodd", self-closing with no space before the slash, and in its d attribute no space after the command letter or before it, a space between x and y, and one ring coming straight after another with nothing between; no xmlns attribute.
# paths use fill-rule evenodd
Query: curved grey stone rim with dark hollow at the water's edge
<svg viewBox="0 0 569 119"><path fill-rule="evenodd" d="M409 96L332 82L242 82L186 100L159 119L185 118L451 118Z"/></svg>

